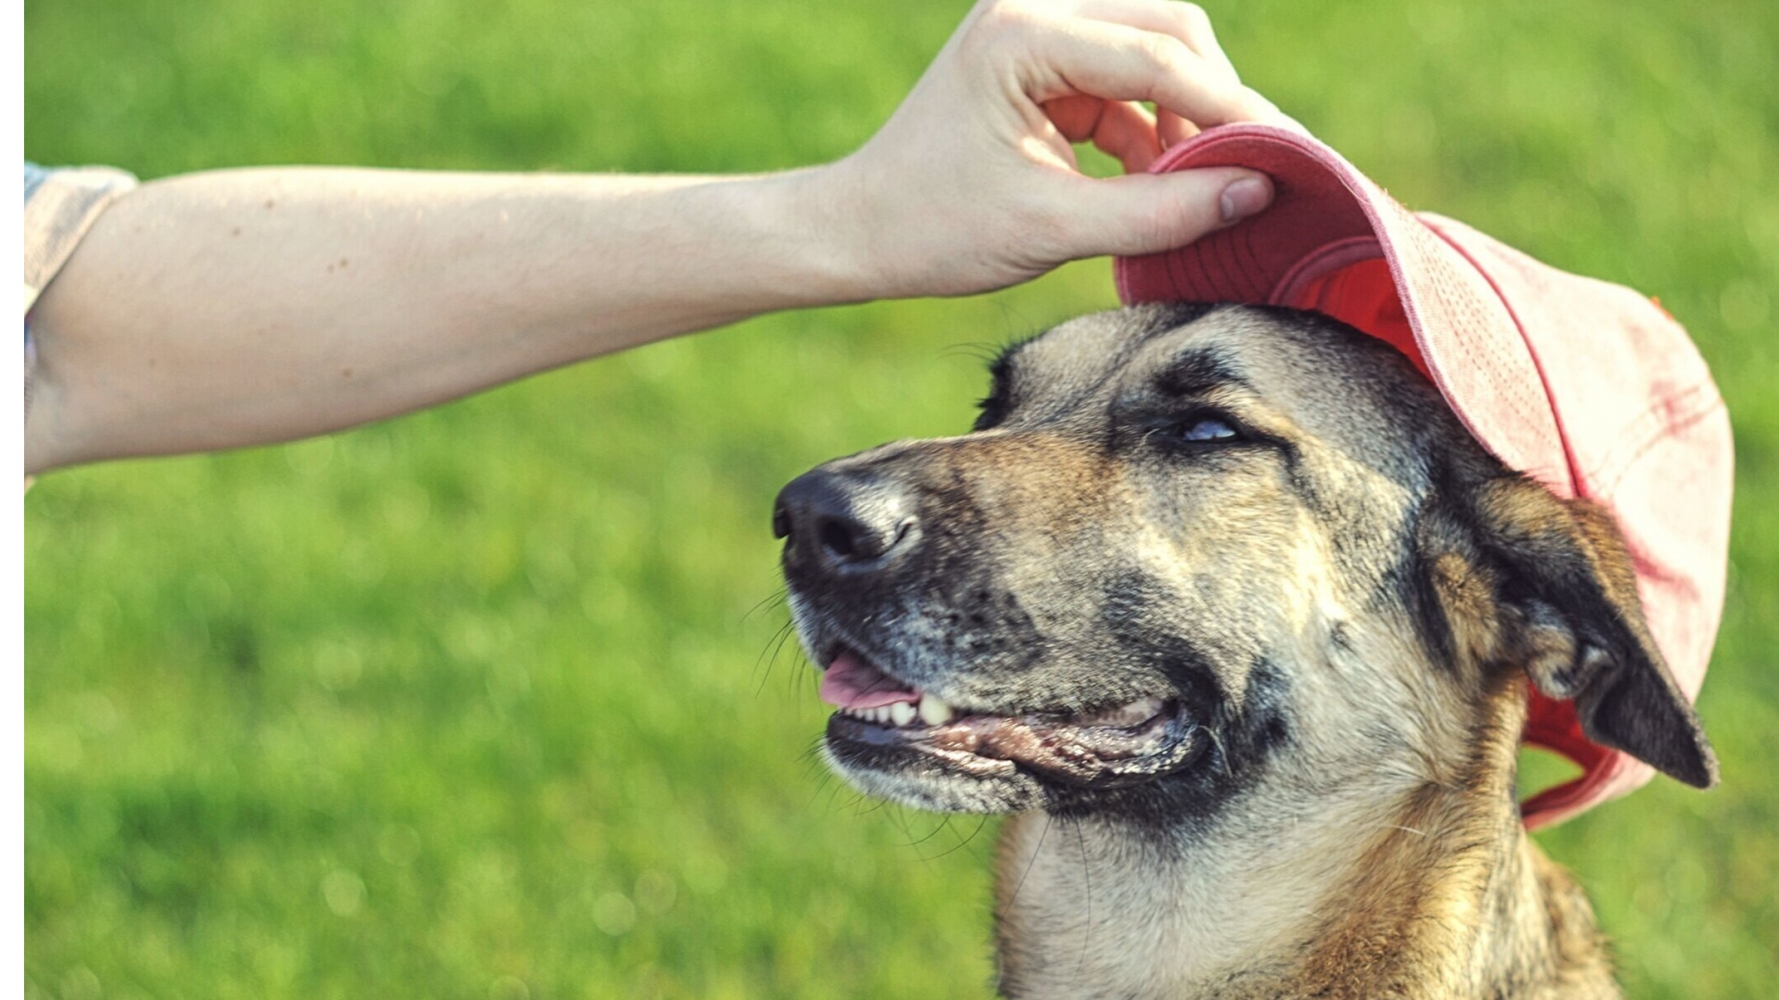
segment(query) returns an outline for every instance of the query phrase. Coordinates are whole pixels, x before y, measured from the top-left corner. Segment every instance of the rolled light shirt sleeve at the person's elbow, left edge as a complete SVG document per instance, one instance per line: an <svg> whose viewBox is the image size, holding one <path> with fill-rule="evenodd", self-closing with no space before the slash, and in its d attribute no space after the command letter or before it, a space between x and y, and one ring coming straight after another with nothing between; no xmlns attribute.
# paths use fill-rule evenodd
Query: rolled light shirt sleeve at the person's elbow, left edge
<svg viewBox="0 0 1779 1000"><path fill-rule="evenodd" d="M25 164L25 418L30 418L30 308L73 256L80 237L107 205L135 187L135 178L112 167L44 169Z"/></svg>

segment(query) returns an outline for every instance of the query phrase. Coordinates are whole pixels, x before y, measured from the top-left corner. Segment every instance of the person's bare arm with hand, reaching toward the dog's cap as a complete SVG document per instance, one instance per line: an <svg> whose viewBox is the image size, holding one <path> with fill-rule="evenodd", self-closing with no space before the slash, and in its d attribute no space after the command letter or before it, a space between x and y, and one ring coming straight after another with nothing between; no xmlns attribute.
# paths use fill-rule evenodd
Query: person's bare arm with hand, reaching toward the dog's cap
<svg viewBox="0 0 1779 1000"><path fill-rule="evenodd" d="M1188 123L1277 116L1181 11L984 2L872 142L806 171L146 183L32 311L27 472L301 438L763 311L970 294L1188 242L1226 222L1231 181L1260 185L1251 210L1265 181L1089 180L1069 149L1091 139L1140 169Z"/></svg>

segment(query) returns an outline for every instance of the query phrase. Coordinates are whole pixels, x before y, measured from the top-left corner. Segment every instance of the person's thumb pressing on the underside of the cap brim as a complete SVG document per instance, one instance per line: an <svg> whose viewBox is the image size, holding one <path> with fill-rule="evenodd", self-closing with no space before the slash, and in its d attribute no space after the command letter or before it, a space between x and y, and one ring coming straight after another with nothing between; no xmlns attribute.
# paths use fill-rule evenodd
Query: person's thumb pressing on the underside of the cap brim
<svg viewBox="0 0 1779 1000"><path fill-rule="evenodd" d="M1083 254L1169 251L1272 205L1272 180L1242 167L1076 178L1069 187Z"/></svg>

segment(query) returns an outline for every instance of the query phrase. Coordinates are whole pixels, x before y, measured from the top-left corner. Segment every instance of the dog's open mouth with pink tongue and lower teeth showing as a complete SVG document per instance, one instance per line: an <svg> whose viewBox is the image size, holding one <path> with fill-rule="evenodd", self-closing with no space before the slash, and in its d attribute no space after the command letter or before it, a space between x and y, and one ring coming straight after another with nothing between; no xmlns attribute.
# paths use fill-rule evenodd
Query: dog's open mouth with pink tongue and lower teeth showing
<svg viewBox="0 0 1779 1000"><path fill-rule="evenodd" d="M950 705L843 648L822 674L829 749L854 767L973 778L1025 772L1069 788L1124 788L1187 767L1199 740L1178 699L1144 696L1089 712L987 712Z"/></svg>

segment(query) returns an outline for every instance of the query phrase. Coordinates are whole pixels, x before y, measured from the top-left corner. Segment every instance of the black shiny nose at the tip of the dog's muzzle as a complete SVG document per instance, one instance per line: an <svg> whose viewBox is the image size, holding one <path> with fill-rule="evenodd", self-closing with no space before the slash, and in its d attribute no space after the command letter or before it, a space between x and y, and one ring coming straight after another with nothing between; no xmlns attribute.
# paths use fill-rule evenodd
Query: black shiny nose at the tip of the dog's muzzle
<svg viewBox="0 0 1779 1000"><path fill-rule="evenodd" d="M809 569L877 569L911 546L914 504L895 482L843 472L806 472L779 491L772 534L785 560Z"/></svg>

